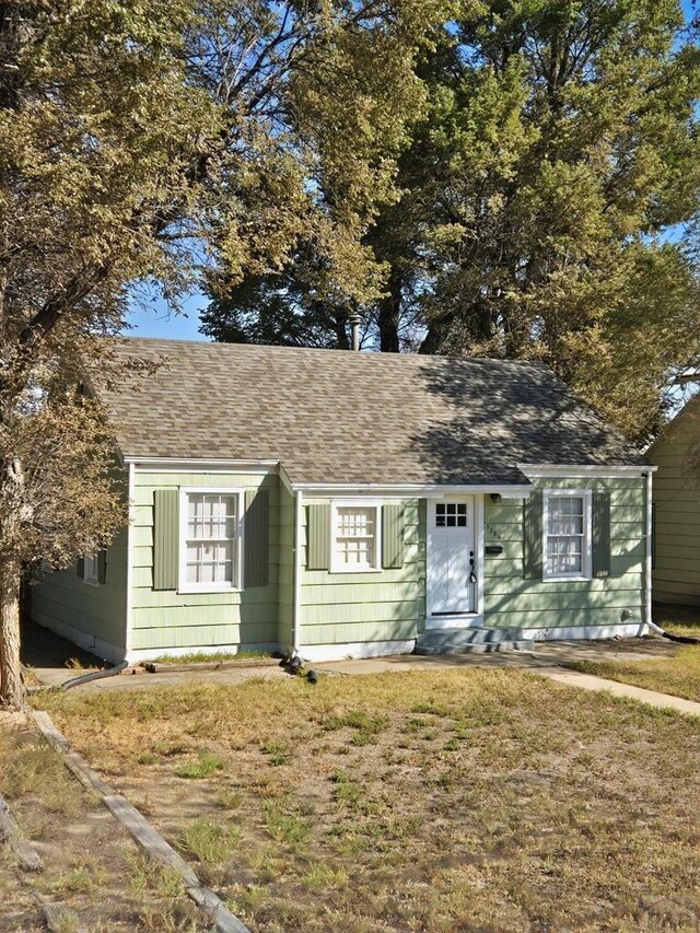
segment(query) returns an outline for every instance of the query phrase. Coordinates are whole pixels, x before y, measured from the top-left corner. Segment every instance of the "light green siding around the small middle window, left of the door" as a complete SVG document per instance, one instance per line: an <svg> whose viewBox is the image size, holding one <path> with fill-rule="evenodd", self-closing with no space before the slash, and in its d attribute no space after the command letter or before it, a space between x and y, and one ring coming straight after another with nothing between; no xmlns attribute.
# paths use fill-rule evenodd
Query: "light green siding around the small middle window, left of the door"
<svg viewBox="0 0 700 933"><path fill-rule="evenodd" d="M328 505L329 500L310 500L306 504ZM424 500L402 503L402 565L370 573L306 569L310 511L304 510L301 543L302 645L416 638L425 620Z"/></svg>

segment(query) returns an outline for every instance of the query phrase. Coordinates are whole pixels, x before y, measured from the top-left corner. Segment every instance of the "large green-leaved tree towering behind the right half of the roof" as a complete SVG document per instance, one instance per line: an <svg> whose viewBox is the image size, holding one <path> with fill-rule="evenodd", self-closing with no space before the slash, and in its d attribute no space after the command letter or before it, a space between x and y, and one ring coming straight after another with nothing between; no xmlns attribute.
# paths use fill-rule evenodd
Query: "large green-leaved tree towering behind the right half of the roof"
<svg viewBox="0 0 700 933"><path fill-rule="evenodd" d="M669 369L700 350L679 240L700 193L696 25L678 0L458 5L418 65L429 102L401 197L365 237L383 282L365 325L385 351L544 359L644 436ZM287 275L312 281L308 254ZM336 306L324 327L279 284L212 303L206 333L225 339L245 306L243 336L267 339L292 308L332 339Z"/></svg>

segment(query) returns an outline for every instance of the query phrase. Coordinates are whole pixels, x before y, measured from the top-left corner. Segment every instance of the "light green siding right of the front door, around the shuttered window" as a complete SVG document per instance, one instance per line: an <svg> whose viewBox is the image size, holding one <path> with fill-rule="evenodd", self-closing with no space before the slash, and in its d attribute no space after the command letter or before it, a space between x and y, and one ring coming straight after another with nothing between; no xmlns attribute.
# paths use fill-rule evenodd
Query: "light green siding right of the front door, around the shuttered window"
<svg viewBox="0 0 700 933"><path fill-rule="evenodd" d="M610 575L585 581L523 579L523 518L517 500L485 497L485 545L503 553L485 557L485 625L514 628L611 626L643 619L644 480L546 479L542 489L593 489L609 494ZM539 497L538 497L539 498ZM530 558L532 559L532 558ZM627 614L626 613L626 614Z"/></svg>

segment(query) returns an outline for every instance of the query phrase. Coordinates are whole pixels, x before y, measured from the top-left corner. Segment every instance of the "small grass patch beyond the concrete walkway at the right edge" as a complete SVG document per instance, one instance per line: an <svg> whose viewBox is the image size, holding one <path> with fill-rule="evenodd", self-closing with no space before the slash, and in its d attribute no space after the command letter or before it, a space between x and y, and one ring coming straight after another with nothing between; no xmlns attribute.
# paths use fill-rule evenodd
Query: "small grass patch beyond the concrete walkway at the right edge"
<svg viewBox="0 0 700 933"><path fill-rule="evenodd" d="M584 674L700 702L700 645L679 646L672 656L656 661L580 661L571 666Z"/></svg>

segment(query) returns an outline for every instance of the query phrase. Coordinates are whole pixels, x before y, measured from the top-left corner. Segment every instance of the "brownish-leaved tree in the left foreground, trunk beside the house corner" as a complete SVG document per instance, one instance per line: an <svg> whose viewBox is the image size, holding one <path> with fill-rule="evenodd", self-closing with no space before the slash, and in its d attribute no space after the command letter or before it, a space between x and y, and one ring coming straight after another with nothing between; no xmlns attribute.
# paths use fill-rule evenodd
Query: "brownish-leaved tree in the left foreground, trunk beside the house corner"
<svg viewBox="0 0 700 933"><path fill-rule="evenodd" d="M23 568L124 520L106 413L135 284L177 304L313 247L366 296L361 243L422 91L434 0L0 2L0 698L23 701ZM319 194L332 179L342 198ZM118 378L118 373L113 373Z"/></svg>

